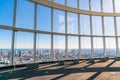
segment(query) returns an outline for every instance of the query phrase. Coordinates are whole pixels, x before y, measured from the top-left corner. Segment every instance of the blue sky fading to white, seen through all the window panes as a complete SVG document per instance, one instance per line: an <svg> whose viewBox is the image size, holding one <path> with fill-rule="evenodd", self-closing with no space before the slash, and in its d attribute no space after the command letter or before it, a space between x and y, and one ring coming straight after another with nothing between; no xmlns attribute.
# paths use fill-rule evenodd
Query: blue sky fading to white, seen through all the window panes
<svg viewBox="0 0 120 80"><path fill-rule="evenodd" d="M77 7L77 0L68 0L69 7ZM88 2L89 0L80 0L80 9L89 10ZM104 11L105 12L112 12L111 9L111 0L104 0ZM116 0L116 5L117 5ZM56 3L65 4L64 0L55 0ZM97 5L98 4L98 5ZM100 11L100 0L92 0L92 10L93 11ZM14 7L14 0L0 0L0 25L7 25L13 26L13 8ZM38 13L37 13L37 29L42 31L51 31L51 8L45 7L42 5L38 5ZM120 10L120 6L117 5L116 10ZM17 14L16 14L16 27L20 28L27 28L27 29L34 29L34 11L35 11L35 4L31 3L27 0L18 0L17 3ZM78 14L68 12L68 32L72 34L78 33ZM81 34L90 34L90 16L89 15L80 15L80 27L81 27ZM101 35L101 17L93 16L93 34ZM105 17L105 34L111 35L114 33L114 22L113 17ZM117 22L120 22L120 18L117 18ZM119 26L120 24L117 23ZM119 29L118 29L119 30ZM54 9L54 32L63 32L65 33L65 12L61 10ZM114 35L114 34L113 34ZM0 48L11 48L11 39L12 39L12 31L9 30L0 30ZM64 37L60 41L61 36L55 37L55 46L56 48L61 48L61 44L65 44ZM38 48L50 48L51 47L51 36L40 34L37 36L37 47ZM69 38L68 37L68 46L70 48L78 48L78 37ZM98 39L98 41L101 39ZM106 39L106 42L115 42L114 39ZM56 43L59 41L59 43ZM88 43L89 42L89 43ZM88 44L87 44L88 43ZM94 42L95 43L95 42ZM70 46L72 44L72 46ZM82 38L83 48L90 48L90 39L89 38ZM98 43L96 48L103 47L102 42ZM107 43L108 44L108 43ZM42 45L42 46L41 46ZM110 47L114 47L115 43L111 43ZM63 45L62 48L65 46ZM109 47L109 46L108 46ZM25 33L25 32L17 32L15 38L15 48L33 48L33 34L32 33Z"/></svg>

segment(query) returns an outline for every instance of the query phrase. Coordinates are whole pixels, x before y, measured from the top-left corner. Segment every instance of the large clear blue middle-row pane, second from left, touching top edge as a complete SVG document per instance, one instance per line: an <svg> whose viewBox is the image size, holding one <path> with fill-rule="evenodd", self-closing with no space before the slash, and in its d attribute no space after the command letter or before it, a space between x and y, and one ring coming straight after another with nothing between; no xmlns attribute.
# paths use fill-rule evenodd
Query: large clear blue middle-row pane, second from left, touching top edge
<svg viewBox="0 0 120 80"><path fill-rule="evenodd" d="M34 29L35 4L27 0L17 0L16 26Z"/></svg>

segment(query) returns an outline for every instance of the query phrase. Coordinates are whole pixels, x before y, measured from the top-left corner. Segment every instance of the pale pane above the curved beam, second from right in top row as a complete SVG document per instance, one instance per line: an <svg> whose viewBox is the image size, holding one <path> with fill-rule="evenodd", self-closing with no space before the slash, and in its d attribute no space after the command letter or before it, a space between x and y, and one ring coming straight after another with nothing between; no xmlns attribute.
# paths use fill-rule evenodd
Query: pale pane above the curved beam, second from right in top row
<svg viewBox="0 0 120 80"><path fill-rule="evenodd" d="M113 0L103 0L103 12L113 12Z"/></svg>

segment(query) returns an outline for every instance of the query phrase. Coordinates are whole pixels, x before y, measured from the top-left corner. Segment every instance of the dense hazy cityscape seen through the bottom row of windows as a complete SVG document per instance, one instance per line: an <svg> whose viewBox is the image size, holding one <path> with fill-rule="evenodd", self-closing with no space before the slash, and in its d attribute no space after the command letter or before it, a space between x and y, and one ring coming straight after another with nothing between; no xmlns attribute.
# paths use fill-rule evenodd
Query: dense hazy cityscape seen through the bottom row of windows
<svg viewBox="0 0 120 80"><path fill-rule="evenodd" d="M64 49L54 49L54 60L65 60L65 50ZM51 60L51 50L50 49L37 49L36 50L36 62L47 62ZM78 59L79 51L77 49L68 50L68 59ZM82 58L90 58L91 50L82 49ZM107 49L106 56L115 57L115 49ZM32 49L15 49L14 51L14 65L25 64L33 62L33 50ZM103 49L95 49L94 57L102 58ZM10 49L0 49L0 67L7 66L11 64L11 50Z"/></svg>

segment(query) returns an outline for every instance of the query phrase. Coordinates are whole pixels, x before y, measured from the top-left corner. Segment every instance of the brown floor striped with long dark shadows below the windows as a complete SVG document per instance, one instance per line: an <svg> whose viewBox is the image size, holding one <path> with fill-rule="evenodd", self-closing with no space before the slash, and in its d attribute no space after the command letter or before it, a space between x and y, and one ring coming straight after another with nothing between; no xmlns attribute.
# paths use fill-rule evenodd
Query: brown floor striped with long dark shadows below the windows
<svg viewBox="0 0 120 80"><path fill-rule="evenodd" d="M120 80L120 61L97 60L94 64L81 60L63 66L42 64L37 70L10 70L0 73L0 80Z"/></svg>

